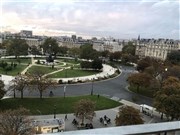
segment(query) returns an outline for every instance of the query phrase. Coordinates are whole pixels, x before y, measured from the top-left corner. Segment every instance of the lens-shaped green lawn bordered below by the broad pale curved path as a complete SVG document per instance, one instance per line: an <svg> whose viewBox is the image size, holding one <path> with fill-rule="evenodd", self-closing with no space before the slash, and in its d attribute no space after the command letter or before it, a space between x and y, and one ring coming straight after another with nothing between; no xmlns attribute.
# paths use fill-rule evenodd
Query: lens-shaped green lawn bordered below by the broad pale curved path
<svg viewBox="0 0 180 135"><path fill-rule="evenodd" d="M64 77L81 77L81 76L88 76L99 73L98 71L92 70L73 70L73 69L66 69L55 74L49 75L51 78L64 78Z"/></svg>

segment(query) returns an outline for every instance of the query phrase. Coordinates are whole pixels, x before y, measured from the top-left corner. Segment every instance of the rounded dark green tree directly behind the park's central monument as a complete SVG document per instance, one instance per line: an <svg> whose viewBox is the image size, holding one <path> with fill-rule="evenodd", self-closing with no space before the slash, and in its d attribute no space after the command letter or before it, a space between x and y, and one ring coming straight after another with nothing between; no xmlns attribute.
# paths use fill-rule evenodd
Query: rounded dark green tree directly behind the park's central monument
<svg viewBox="0 0 180 135"><path fill-rule="evenodd" d="M54 54L54 56L56 56L59 51L57 40L51 37L45 39L42 48L45 53Z"/></svg>

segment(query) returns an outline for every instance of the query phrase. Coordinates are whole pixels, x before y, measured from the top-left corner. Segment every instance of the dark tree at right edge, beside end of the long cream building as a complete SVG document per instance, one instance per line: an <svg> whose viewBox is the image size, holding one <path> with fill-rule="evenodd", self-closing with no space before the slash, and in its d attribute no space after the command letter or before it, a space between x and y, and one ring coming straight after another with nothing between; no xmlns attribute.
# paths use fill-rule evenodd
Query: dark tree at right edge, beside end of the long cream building
<svg viewBox="0 0 180 135"><path fill-rule="evenodd" d="M180 51L179 50L171 51L171 53L169 53L167 55L167 60L173 64L179 64L180 63Z"/></svg>

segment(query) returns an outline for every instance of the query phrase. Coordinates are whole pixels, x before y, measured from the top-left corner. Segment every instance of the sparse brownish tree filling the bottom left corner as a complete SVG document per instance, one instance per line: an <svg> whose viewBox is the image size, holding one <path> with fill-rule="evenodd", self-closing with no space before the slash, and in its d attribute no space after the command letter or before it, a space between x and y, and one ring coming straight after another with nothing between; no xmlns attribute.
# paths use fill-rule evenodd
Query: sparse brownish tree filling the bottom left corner
<svg viewBox="0 0 180 135"><path fill-rule="evenodd" d="M1 135L33 135L34 127L32 119L27 115L29 111L25 108L7 110L0 113Z"/></svg>

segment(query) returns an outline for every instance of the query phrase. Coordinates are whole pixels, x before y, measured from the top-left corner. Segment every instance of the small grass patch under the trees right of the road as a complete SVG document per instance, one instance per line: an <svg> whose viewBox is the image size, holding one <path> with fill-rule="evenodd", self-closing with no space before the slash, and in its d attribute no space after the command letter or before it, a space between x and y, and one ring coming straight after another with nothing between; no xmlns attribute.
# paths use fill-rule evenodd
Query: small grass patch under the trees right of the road
<svg viewBox="0 0 180 135"><path fill-rule="evenodd" d="M129 86L129 90L150 98L153 98L155 92L154 90L150 90L149 88L145 87L140 87L139 91L137 91L136 86Z"/></svg>

